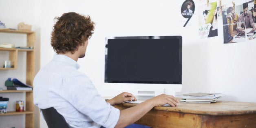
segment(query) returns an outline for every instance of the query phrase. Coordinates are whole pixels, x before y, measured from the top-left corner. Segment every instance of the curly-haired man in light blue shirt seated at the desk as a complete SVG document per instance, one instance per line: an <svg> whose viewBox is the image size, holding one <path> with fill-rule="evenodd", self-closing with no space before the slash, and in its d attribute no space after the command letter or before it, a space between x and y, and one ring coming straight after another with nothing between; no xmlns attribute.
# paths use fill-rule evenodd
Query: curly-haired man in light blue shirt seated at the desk
<svg viewBox="0 0 256 128"><path fill-rule="evenodd" d="M124 128L154 106L177 106L176 98L162 94L126 110L113 107L137 99L124 92L105 101L90 79L77 71L80 67L77 60L85 56L94 22L89 16L74 12L64 13L56 19L51 46L57 54L35 76L33 94L36 106L55 108L72 128Z"/></svg>

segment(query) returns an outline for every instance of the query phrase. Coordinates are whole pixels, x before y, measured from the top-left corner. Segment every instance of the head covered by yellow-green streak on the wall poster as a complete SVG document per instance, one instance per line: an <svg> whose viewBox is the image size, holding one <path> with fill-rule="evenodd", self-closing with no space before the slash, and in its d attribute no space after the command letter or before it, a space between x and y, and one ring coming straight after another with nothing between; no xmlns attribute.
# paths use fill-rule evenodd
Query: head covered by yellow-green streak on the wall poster
<svg viewBox="0 0 256 128"><path fill-rule="evenodd" d="M214 20L214 16L215 16L215 20L217 20L218 17L217 17L216 7L217 7L217 2L209 3L209 6L205 7L205 11L203 11L205 24L212 23L212 21Z"/></svg>

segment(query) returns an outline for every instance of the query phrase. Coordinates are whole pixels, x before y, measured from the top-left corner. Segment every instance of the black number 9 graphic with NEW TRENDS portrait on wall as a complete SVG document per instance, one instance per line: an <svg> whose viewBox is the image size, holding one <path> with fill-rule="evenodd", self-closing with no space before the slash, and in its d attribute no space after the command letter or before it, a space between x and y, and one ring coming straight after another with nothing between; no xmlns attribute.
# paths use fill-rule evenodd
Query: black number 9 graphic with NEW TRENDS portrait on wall
<svg viewBox="0 0 256 128"><path fill-rule="evenodd" d="M195 4L193 0L185 0L181 6L181 14L184 18L188 18L187 22L185 22L184 26L185 27L194 14L195 11Z"/></svg>

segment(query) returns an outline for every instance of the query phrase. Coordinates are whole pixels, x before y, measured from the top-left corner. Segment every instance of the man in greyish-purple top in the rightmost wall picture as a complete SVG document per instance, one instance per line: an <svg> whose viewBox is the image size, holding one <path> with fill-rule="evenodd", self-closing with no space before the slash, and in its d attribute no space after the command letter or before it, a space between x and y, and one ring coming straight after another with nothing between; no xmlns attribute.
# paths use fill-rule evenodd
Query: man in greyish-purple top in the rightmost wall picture
<svg viewBox="0 0 256 128"><path fill-rule="evenodd" d="M252 12L248 10L248 3L243 3L243 13L238 17L238 31L245 33L246 28L253 28L256 30L256 24L252 19Z"/></svg>

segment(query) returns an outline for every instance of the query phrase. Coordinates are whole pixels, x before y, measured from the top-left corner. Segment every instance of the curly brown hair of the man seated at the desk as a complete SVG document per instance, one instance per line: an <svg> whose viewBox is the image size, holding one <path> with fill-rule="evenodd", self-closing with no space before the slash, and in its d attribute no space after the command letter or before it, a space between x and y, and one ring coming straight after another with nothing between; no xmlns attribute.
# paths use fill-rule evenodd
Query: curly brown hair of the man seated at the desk
<svg viewBox="0 0 256 128"><path fill-rule="evenodd" d="M55 17L57 22L53 26L51 33L51 46L58 53L78 50L77 46L84 45L94 31L95 23L90 20L90 16L78 13L64 13L61 17Z"/></svg>

